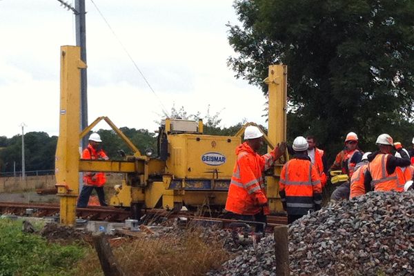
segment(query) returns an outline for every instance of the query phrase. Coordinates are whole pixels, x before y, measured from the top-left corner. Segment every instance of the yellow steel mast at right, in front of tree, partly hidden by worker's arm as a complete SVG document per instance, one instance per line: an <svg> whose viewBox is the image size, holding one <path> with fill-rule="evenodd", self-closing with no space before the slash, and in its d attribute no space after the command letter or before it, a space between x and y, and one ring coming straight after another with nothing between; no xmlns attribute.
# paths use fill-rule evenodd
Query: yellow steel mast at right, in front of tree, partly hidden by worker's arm
<svg viewBox="0 0 414 276"><path fill-rule="evenodd" d="M288 67L286 65L269 66L268 77L264 80L268 85L268 139L277 145L286 141L286 91ZM271 148L268 147L270 152ZM282 164L276 164L272 177L267 177L267 196L269 207L273 213L283 212L279 200L279 177Z"/></svg>

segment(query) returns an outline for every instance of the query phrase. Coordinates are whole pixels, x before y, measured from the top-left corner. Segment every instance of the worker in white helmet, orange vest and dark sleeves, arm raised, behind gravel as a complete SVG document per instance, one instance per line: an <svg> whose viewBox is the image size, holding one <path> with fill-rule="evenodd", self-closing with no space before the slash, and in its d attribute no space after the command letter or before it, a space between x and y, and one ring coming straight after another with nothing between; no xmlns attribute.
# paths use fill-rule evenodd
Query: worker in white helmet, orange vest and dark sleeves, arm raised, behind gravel
<svg viewBox="0 0 414 276"><path fill-rule="evenodd" d="M388 191L398 190L398 176L395 169L406 167L411 164L410 157L403 150L401 143L393 143L393 138L384 133L378 136L376 144L379 151L368 155L368 169L365 172L364 186L368 191ZM400 153L401 158L391 155L391 150L395 148Z"/></svg>

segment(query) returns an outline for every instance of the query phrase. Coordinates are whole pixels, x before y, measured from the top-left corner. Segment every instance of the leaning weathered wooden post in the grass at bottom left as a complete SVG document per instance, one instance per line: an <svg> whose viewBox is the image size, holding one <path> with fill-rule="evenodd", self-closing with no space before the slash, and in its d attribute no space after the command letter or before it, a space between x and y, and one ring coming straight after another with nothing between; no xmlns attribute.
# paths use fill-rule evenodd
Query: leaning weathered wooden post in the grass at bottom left
<svg viewBox="0 0 414 276"><path fill-rule="evenodd" d="M99 262L103 275L105 276L125 276L125 273L119 268L115 256L112 254L108 239L103 233L94 234L92 236L95 250L97 250Z"/></svg>

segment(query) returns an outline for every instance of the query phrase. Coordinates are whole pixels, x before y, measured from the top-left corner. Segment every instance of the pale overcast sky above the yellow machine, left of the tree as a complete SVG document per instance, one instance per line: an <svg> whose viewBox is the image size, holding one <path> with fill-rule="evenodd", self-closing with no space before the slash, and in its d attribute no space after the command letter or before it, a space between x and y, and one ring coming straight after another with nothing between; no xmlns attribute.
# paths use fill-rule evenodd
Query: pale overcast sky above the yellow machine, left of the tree
<svg viewBox="0 0 414 276"><path fill-rule="evenodd" d="M235 52L226 23L238 23L232 0L86 0L86 11L89 123L107 116L153 132L163 108L205 115L210 106L221 127L266 124L260 88L227 66ZM22 123L59 135L59 53L76 44L74 15L57 0L0 0L0 37L0 136L21 133Z"/></svg>

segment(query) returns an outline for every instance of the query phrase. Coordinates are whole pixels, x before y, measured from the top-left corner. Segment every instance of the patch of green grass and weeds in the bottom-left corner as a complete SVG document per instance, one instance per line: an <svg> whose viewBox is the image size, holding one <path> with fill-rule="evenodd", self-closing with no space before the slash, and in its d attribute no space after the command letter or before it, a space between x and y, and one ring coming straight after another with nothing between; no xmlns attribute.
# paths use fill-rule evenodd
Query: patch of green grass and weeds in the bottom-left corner
<svg viewBox="0 0 414 276"><path fill-rule="evenodd" d="M0 275L75 275L75 264L86 254L77 245L49 244L21 231L21 221L0 219Z"/></svg>

